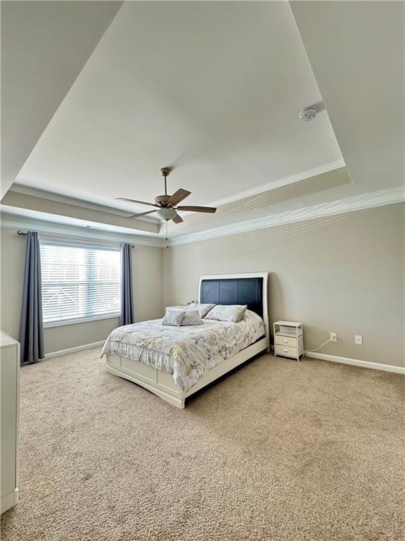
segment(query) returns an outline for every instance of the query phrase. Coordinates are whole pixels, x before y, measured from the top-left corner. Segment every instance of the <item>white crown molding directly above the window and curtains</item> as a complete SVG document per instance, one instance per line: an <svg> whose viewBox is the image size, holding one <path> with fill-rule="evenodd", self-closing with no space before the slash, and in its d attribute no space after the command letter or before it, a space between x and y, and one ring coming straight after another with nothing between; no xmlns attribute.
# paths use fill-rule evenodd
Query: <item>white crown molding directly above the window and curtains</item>
<svg viewBox="0 0 405 541"><path fill-rule="evenodd" d="M80 227L78 225L66 225L47 220L38 220L37 218L27 218L15 214L1 213L2 228L35 230L39 233L50 233L51 235L60 235L61 237L71 237L76 239L88 239L110 242L129 242L136 246L150 246L163 248L165 240L162 237L150 237L146 235L131 235L122 232L101 230L96 228Z"/></svg>

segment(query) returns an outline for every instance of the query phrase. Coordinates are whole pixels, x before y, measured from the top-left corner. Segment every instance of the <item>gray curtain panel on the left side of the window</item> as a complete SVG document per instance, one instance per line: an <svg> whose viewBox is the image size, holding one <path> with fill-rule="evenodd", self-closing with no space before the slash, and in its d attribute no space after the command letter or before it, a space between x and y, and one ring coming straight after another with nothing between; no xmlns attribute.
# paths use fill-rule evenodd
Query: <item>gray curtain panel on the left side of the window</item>
<svg viewBox="0 0 405 541"><path fill-rule="evenodd" d="M23 306L20 321L21 364L44 359L44 325L42 323L41 251L36 231L25 239Z"/></svg>

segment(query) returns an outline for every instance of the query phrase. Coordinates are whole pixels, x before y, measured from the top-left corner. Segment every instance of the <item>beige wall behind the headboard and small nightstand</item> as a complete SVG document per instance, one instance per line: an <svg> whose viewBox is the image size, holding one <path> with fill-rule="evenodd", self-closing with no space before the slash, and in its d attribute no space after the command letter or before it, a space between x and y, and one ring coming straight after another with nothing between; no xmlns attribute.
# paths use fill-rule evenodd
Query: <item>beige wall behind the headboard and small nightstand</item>
<svg viewBox="0 0 405 541"><path fill-rule="evenodd" d="M165 305L196 299L200 275L267 270L270 321L302 321L305 349L337 332L322 353L403 366L404 206L164 250Z"/></svg>

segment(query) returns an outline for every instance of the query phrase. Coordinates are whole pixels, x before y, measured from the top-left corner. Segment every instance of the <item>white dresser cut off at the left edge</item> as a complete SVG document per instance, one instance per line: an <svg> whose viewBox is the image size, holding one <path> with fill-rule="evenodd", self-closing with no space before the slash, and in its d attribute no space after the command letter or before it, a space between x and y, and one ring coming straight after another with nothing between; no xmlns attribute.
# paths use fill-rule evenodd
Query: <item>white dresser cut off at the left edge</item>
<svg viewBox="0 0 405 541"><path fill-rule="evenodd" d="M18 500L20 344L0 330L1 513Z"/></svg>

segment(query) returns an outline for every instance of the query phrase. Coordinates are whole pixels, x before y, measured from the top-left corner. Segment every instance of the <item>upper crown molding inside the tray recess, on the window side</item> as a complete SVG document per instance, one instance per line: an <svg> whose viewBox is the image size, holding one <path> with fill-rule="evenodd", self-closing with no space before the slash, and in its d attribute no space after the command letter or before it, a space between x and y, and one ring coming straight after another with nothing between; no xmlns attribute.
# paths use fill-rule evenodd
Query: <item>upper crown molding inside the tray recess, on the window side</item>
<svg viewBox="0 0 405 541"><path fill-rule="evenodd" d="M102 205L93 203L92 201L86 201L85 199L78 199L77 197L70 197L62 194L56 194L55 192L48 192L46 189L34 188L32 186L25 186L23 184L13 184L8 192L15 192L16 194L30 195L32 197L39 197L40 199L47 199L48 201L56 201L57 203L65 203L73 206L80 206L83 209L90 209L92 211L100 211L115 216L123 216L126 218L131 211L124 211L123 209L117 209L113 206ZM141 216L137 218L144 222L160 223L160 220L151 218L150 216Z"/></svg>

